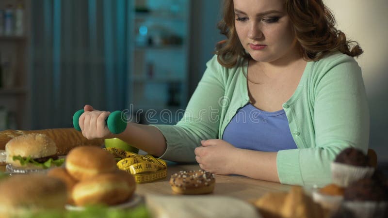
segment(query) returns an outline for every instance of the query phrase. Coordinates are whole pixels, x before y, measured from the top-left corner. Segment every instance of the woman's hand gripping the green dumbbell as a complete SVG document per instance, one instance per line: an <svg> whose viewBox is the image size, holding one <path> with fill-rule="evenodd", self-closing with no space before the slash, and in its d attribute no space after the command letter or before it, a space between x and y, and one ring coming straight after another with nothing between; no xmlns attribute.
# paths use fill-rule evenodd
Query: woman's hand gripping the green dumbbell
<svg viewBox="0 0 388 218"><path fill-rule="evenodd" d="M113 133L106 125L106 119L111 112L95 110L90 105L85 105L79 119L82 135L89 140L113 138Z"/></svg>

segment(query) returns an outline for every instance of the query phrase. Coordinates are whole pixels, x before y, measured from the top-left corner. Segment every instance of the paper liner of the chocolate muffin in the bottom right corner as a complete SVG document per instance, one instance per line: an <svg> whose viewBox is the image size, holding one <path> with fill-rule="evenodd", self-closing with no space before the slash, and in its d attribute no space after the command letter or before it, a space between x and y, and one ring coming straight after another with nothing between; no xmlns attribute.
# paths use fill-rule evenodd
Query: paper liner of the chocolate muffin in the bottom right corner
<svg viewBox="0 0 388 218"><path fill-rule="evenodd" d="M355 218L384 218L388 202L344 201L342 206L350 210Z"/></svg>

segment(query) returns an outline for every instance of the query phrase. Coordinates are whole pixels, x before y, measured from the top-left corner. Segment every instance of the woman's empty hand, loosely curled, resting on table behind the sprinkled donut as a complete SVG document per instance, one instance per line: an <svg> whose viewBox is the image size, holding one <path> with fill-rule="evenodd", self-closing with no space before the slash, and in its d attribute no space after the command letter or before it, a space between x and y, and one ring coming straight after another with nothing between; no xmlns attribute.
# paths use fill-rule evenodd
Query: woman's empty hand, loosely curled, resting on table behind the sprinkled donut
<svg viewBox="0 0 388 218"><path fill-rule="evenodd" d="M199 167L215 174L233 174L238 148L224 140L202 140L202 146L194 150Z"/></svg>

